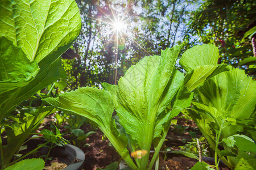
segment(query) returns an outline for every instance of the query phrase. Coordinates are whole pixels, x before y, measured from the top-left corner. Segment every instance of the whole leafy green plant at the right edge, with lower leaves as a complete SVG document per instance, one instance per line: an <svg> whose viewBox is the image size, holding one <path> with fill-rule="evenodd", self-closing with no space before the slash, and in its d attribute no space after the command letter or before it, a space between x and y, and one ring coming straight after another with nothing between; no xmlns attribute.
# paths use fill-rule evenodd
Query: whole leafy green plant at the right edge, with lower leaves
<svg viewBox="0 0 256 170"><path fill-rule="evenodd" d="M230 67L195 90L193 108L186 112L215 151L217 169L217 158L231 169L256 168L255 89L256 82L243 70Z"/></svg>

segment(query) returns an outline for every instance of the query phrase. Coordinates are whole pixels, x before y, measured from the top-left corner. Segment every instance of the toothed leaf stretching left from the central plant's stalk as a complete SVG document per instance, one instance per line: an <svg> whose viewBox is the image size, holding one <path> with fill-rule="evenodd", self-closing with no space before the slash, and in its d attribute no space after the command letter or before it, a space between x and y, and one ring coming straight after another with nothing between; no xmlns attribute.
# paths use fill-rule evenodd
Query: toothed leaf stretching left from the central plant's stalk
<svg viewBox="0 0 256 170"><path fill-rule="evenodd" d="M66 92L56 98L45 99L47 103L67 113L84 116L95 122L101 129L110 129L114 104L112 96L105 90L82 87Z"/></svg>

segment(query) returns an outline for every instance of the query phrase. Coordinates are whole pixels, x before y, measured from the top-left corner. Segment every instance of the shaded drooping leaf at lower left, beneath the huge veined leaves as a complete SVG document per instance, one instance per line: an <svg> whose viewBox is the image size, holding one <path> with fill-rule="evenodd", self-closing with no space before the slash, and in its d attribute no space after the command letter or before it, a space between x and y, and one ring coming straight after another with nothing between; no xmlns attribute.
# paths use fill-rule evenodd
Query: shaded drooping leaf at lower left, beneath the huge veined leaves
<svg viewBox="0 0 256 170"><path fill-rule="evenodd" d="M52 107L40 107L31 109L28 113L18 113L5 118L1 122L2 133L6 132L6 138L3 138L6 139L5 145L3 145L3 158L6 160L18 156L19 158L15 158L14 162L25 158L26 156L19 155L18 152L27 142L27 137L38 129L44 117L55 111Z"/></svg>

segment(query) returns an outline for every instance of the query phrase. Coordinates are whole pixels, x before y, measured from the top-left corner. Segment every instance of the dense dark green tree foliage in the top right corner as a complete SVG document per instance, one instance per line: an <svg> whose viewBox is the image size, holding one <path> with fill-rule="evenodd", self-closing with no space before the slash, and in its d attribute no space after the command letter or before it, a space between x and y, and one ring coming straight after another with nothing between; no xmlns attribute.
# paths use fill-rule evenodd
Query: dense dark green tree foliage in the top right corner
<svg viewBox="0 0 256 170"><path fill-rule="evenodd" d="M203 1L200 8L192 12L188 22L187 41L190 45L214 43L220 49L219 63L228 63L234 67L253 56L251 39L243 39L247 31L255 26L255 1ZM199 37L199 39L191 39ZM241 41L243 39L243 41ZM255 74L255 66L242 66L247 73ZM254 70L253 70L254 69Z"/></svg>

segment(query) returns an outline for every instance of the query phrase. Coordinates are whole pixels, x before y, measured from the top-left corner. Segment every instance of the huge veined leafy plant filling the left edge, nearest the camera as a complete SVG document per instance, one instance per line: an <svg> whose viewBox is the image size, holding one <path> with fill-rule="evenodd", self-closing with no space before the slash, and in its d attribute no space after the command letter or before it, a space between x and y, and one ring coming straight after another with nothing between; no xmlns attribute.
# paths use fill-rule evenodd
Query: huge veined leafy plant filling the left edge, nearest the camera
<svg viewBox="0 0 256 170"><path fill-rule="evenodd" d="M48 114L43 104L38 112L27 116L28 122L19 122L12 112L22 101L65 77L60 55L72 45L80 29L75 0L1 1L0 126L1 134L11 131L7 145L3 146L0 138L2 168L10 164L42 116ZM10 118L15 118L13 125L6 124Z"/></svg>

